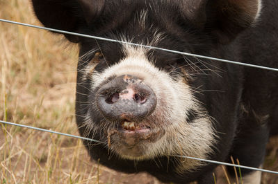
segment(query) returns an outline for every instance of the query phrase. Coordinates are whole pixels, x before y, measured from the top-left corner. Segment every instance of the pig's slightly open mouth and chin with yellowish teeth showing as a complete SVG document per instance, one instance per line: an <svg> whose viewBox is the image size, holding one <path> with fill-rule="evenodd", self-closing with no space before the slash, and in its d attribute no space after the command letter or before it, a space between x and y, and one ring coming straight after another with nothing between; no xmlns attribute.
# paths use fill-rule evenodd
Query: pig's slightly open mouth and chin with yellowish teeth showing
<svg viewBox="0 0 278 184"><path fill-rule="evenodd" d="M144 156L146 145L156 142L164 134L165 131L158 127L124 120L117 128L108 129L108 147L115 149L120 156Z"/></svg>

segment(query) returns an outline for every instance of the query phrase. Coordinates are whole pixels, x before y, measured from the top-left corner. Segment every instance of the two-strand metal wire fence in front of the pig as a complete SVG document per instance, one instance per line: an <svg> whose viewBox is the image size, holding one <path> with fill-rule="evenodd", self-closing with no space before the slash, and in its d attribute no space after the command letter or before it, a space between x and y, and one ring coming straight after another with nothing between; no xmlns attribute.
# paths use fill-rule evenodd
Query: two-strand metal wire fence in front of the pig
<svg viewBox="0 0 278 184"><path fill-rule="evenodd" d="M129 44L129 45L133 45L133 46L141 46L141 47L150 48L150 49L163 50L163 51L170 52L170 53L177 53L177 54L180 54L180 55L188 55L188 56L192 56L192 57L199 57L199 58L202 58L202 59L211 59L211 60L215 60L215 61L218 61L218 62L226 62L226 63L229 63L229 64L238 64L238 65L241 65L241 66L261 68L261 69L265 69L265 70L268 70L268 71L278 71L278 68L271 68L271 67L267 67L267 66L259 66L259 65L254 65L254 64L235 62L235 61L231 61L231 60L227 60L227 59L208 57L208 56L204 56L204 55L196 55L196 54L193 54L193 53L185 53L185 52L181 52L181 51L178 51L178 50L170 50L170 49L167 49L167 48L158 48L158 47L154 47L154 46L146 46L146 45L142 45L142 44L124 42L124 41L120 41L120 40L116 40L116 39L96 37L96 36L93 36L93 35L84 35L84 34L80 34L80 33L72 33L72 32L65 31L65 30L45 28L45 27L42 27L42 26L35 26L35 25L32 25L32 24L24 24L24 23L20 23L20 22L17 22L17 21L10 21L10 20L6 20L6 19L0 19L0 21L6 22L6 23L9 23L9 24L17 24L17 25L20 25L20 26L28 26L28 27L31 27L31 28L39 28L39 29L43 29L43 30L50 30L50 31L53 31L53 32L56 32L56 33L76 35L76 36L80 36L80 37L88 37L88 38L92 38L92 39L99 39L99 40L103 40L103 41L107 41L107 42L117 42L117 43L120 43L120 44ZM72 137L72 138L79 138L79 139L83 139L83 140L89 140L89 141L92 141L92 142L97 142L97 143L100 143L100 144L105 144L105 142L101 142L99 140L95 140L95 139L92 139L92 138L85 138L85 137L82 137L82 136L75 136L75 135L72 135L72 134L65 134L65 133L58 132L58 131L52 131L52 130L48 130L48 129L41 129L41 128L38 128L38 127L31 127L31 126L28 126L28 125L17 124L17 123L14 123L14 122L7 122L7 121L0 120L0 123L5 124L5 125L13 125L13 126L17 126L17 127L24 127L24 128L28 128L28 129L34 129L34 130L37 130L37 131L45 131L45 132L48 132L48 133L51 133L51 134L59 134L59 135L62 135L62 136L68 136L68 137ZM224 162L220 162L220 161L216 161L216 160L207 160L207 159L195 158L195 157L191 157L191 156L181 156L181 155L174 155L174 156L180 157L180 158L200 160L200 161L203 161L203 162L206 162L206 163L213 163L213 164L217 164L217 165L227 165L227 166L239 167L239 168L243 168L243 169L252 169L252 170L260 171L260 172L268 172L270 174L278 174L278 172L268 170L268 169L260 169L260 168L256 168L256 167L248 167L248 166L244 166L244 165L224 163Z"/></svg>

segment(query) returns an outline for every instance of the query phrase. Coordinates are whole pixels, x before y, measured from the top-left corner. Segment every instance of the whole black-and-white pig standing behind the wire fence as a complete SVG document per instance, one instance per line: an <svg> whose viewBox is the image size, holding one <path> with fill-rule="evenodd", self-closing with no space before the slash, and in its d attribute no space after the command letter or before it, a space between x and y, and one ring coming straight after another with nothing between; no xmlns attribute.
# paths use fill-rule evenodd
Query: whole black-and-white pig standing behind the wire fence
<svg viewBox="0 0 278 184"><path fill-rule="evenodd" d="M50 28L278 68L277 0L32 1ZM80 46L79 132L105 142L84 141L93 159L165 183L214 183L216 165L177 155L262 167L278 133L277 72L65 37Z"/></svg>

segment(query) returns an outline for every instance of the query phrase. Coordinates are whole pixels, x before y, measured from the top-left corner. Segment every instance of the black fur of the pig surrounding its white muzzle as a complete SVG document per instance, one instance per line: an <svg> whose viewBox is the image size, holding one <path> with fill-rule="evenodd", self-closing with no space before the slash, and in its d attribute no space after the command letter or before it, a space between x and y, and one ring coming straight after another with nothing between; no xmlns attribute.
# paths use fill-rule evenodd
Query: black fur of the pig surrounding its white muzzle
<svg viewBox="0 0 278 184"><path fill-rule="evenodd" d="M256 24L256 1L247 0L240 2L247 2L247 6L224 0L32 1L35 14L47 27L111 39L120 39L124 35L139 44L147 44L147 39L152 40L156 30L159 30L165 34L165 39L157 44L161 48L278 68L277 0L263 0L261 17ZM194 11L192 8L195 8ZM145 29L140 27L139 19L136 18L142 10L148 11ZM71 42L79 42L80 55L93 48L101 48L108 63L101 62L95 68L96 71L103 71L124 57L121 44L72 35L65 37ZM86 102L92 102L95 98L95 91L89 90L90 79L84 82L80 72L92 57L93 53L81 59L77 68L76 122L79 126L83 124L87 111L92 111L91 118L95 122L103 118L99 116L97 107L86 105ZM182 55L149 50L149 57L154 58L154 64L169 72L173 78L184 74L180 68L186 65ZM195 58L190 61L197 62ZM207 70L204 64L199 63L187 64L183 69L192 74L185 78L196 89L195 97L204 104L216 122L215 130L220 140L213 147L214 154L210 159L229 161L229 156L233 156L240 160L241 165L259 167L263 163L269 135L278 133L278 73L203 61L207 67L217 71ZM200 69L204 72L197 72ZM195 112L190 112L188 120L194 118ZM85 127L79 131L83 135ZM86 136L90 138L92 134ZM97 134L95 139L103 140L103 137ZM108 155L103 145L93 145L86 140L84 144L92 158L100 159L100 163L122 172L149 172L163 182L213 183L213 164L204 165L196 172L177 174L174 171L177 167L176 158L171 156L154 160L124 160ZM250 172L245 169L241 171L243 174Z"/></svg>

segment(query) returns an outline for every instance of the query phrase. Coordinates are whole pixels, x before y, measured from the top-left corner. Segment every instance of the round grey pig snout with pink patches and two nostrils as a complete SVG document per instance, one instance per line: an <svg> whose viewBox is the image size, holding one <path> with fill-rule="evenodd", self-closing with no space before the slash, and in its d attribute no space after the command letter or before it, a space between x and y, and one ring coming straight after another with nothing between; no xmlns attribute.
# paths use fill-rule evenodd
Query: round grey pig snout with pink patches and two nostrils
<svg viewBox="0 0 278 184"><path fill-rule="evenodd" d="M96 102L99 111L110 120L138 122L152 114L156 95L138 77L121 75L99 88Z"/></svg>

